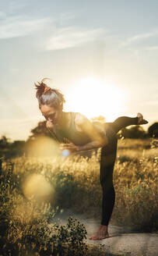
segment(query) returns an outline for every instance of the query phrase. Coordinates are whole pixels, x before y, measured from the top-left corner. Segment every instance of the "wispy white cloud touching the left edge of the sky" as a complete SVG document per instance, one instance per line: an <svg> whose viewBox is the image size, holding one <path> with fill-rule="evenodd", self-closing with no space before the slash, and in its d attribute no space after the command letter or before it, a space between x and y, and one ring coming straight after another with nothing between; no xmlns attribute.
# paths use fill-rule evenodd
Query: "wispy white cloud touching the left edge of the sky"
<svg viewBox="0 0 158 256"><path fill-rule="evenodd" d="M49 23L51 23L50 18L30 20L23 16L6 17L0 22L0 38L23 37L44 29Z"/></svg>

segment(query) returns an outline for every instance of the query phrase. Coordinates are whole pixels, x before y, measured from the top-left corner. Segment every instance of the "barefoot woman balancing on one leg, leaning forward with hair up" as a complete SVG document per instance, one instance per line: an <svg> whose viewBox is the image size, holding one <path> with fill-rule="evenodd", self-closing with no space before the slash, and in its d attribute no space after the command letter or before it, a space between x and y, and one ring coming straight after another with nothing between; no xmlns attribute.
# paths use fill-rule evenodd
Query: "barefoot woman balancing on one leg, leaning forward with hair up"
<svg viewBox="0 0 158 256"><path fill-rule="evenodd" d="M148 123L138 113L135 118L121 116L114 123L90 122L78 112L63 112L64 95L58 90L47 87L44 80L35 84L36 97L42 115L47 119L47 129L52 137L61 144L61 149L70 152L101 148L100 184L103 190L102 219L100 227L91 240L109 237L108 223L114 208L113 170L117 152L119 130L131 125Z"/></svg>

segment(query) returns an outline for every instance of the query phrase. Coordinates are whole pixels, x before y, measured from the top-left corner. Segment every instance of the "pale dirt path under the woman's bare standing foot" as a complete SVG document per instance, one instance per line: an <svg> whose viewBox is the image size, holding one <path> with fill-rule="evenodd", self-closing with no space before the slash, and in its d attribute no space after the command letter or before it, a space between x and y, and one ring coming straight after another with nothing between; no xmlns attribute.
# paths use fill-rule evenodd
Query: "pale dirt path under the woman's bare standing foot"
<svg viewBox="0 0 158 256"><path fill-rule="evenodd" d="M158 256L158 233L133 232L129 227L109 225L110 237L104 240L90 240L89 237L97 230L100 222L86 215L74 214L65 210L62 214L56 215L54 220L61 219L60 223L65 224L69 216L78 219L86 226L87 244L101 245L105 252L111 254L124 254L125 256Z"/></svg>

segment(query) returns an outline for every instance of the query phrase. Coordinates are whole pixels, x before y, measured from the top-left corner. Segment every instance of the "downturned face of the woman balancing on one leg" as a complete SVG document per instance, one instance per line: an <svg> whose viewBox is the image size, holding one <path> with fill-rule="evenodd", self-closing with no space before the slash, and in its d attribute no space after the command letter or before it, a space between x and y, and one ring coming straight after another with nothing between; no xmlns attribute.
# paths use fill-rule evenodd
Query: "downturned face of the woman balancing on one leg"
<svg viewBox="0 0 158 256"><path fill-rule="evenodd" d="M53 108L48 105L40 105L40 111L47 121L58 124L61 119L61 108Z"/></svg>

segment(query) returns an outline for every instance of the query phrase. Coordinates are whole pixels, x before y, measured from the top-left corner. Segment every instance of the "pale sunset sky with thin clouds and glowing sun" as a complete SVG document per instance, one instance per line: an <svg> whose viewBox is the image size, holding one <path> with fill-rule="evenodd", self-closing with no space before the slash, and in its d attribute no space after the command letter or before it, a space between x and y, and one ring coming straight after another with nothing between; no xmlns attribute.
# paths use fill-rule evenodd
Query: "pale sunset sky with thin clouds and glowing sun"
<svg viewBox="0 0 158 256"><path fill-rule="evenodd" d="M26 140L44 121L34 83L88 118L158 120L156 0L0 0L0 136Z"/></svg>

